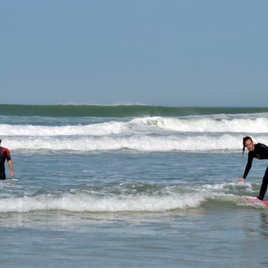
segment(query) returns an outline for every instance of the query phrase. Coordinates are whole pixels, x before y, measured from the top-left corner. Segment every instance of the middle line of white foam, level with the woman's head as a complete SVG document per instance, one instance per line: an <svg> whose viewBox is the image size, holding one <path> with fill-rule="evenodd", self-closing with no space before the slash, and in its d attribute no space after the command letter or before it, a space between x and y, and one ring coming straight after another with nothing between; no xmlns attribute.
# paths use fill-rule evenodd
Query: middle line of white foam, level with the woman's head
<svg viewBox="0 0 268 268"><path fill-rule="evenodd" d="M11 150L140 150L203 151L241 150L242 135L197 135L189 137L133 135L122 137L9 137L5 146ZM258 137L267 144L268 137Z"/></svg>

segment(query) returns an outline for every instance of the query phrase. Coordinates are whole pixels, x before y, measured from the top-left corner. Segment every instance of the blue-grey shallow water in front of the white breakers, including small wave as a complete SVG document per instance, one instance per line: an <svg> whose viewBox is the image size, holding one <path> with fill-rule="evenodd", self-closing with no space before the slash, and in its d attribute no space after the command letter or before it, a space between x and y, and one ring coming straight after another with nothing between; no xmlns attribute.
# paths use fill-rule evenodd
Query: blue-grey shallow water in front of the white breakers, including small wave
<svg viewBox="0 0 268 268"><path fill-rule="evenodd" d="M16 180L0 186L4 267L268 264L268 210L241 200L260 183L234 182L245 161L240 154L51 152L13 159ZM258 168L265 168L261 161Z"/></svg>

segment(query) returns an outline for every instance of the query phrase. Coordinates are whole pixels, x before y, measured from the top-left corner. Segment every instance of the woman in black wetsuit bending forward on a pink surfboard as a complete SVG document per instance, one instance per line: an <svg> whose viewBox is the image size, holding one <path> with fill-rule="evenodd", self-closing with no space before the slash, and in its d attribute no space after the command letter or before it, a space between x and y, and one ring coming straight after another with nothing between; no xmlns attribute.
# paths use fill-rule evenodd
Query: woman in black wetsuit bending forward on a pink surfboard
<svg viewBox="0 0 268 268"><path fill-rule="evenodd" d="M247 166L245 167L245 172L242 178L237 181L245 181L247 174L249 173L250 168L252 167L252 160L257 159L268 159L268 147L265 144L254 144L251 137L243 138L243 153L245 152L245 147L249 150L249 155L247 159ZM267 191L268 186L268 167L265 171L265 176L263 177L263 183L260 187L260 194L258 195L258 199L263 200L265 197L265 192Z"/></svg>

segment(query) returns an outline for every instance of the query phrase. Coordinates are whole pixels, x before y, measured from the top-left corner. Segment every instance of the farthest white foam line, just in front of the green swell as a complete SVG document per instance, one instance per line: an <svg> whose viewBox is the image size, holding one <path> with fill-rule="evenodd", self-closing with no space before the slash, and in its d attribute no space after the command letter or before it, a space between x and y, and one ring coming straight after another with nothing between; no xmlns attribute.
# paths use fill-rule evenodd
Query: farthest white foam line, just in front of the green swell
<svg viewBox="0 0 268 268"><path fill-rule="evenodd" d="M0 135L113 135L140 131L175 131L179 133L268 133L268 118L134 118L128 122L111 121L87 125L36 126L0 124Z"/></svg>

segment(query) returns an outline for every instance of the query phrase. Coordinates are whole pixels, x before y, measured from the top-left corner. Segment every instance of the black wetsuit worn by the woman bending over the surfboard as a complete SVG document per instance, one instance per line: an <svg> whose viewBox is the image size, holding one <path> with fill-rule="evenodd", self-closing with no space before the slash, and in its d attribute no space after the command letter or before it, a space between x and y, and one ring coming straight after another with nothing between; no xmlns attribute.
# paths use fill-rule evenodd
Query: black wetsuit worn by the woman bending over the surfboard
<svg viewBox="0 0 268 268"><path fill-rule="evenodd" d="M268 159L268 147L265 144L254 144L254 150L249 151L248 159L247 159L247 166L245 167L245 172L243 178L247 177L250 168L252 167L252 160L255 158L257 159ZM260 194L258 196L259 199L263 200L265 197L265 192L267 191L268 186L268 167L265 171L265 176L263 177L263 183L260 187Z"/></svg>

